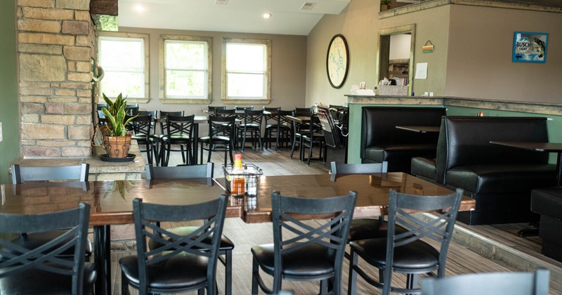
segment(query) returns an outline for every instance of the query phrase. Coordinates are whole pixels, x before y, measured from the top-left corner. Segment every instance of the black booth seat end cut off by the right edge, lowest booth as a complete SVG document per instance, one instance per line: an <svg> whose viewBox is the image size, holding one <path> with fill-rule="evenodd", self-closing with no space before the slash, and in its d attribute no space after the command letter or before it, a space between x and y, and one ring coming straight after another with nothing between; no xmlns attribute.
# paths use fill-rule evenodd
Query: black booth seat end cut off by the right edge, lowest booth
<svg viewBox="0 0 562 295"><path fill-rule="evenodd" d="M562 187L532 190L531 211L562 219Z"/></svg>

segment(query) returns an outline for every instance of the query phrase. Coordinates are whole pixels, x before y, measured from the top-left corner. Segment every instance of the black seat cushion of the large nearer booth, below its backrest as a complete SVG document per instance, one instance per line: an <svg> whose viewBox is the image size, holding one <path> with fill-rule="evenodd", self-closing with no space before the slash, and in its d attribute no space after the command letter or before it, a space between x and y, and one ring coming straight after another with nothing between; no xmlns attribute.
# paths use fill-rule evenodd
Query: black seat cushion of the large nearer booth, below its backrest
<svg viewBox="0 0 562 295"><path fill-rule="evenodd" d="M478 164L457 166L446 173L447 185L473 193L530 191L552 185L554 164Z"/></svg>

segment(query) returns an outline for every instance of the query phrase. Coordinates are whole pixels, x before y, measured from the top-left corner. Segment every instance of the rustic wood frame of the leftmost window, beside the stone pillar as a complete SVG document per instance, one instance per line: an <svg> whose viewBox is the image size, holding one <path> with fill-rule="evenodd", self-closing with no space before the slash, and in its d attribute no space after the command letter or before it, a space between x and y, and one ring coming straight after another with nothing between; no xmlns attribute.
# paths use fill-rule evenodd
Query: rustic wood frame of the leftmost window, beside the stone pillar
<svg viewBox="0 0 562 295"><path fill-rule="evenodd" d="M127 101L129 103L148 103L150 101L150 63L149 63L149 34L141 34L141 33L130 33L130 32L107 32L107 31L100 31L98 32L98 40L96 42L97 46L96 46L96 51L97 51L97 57L98 60L100 60L100 43L101 43L101 39L105 39L105 37L107 38L111 38L111 39L142 39L143 40L143 53L144 53L144 69L143 69L143 74L144 74L144 97L142 98L132 98L132 97L127 97ZM103 67L103 64L101 65ZM100 81L103 84L103 79L102 81ZM98 87L98 91L96 91L98 93L98 96L102 97L102 89L101 87Z"/></svg>

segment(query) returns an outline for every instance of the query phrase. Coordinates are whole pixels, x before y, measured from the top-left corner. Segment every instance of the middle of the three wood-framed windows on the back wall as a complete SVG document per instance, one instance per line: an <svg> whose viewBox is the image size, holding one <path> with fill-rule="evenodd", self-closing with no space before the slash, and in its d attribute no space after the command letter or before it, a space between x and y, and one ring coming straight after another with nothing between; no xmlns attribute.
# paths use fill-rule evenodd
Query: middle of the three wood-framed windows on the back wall
<svg viewBox="0 0 562 295"><path fill-rule="evenodd" d="M162 103L210 103L212 38L160 37Z"/></svg>

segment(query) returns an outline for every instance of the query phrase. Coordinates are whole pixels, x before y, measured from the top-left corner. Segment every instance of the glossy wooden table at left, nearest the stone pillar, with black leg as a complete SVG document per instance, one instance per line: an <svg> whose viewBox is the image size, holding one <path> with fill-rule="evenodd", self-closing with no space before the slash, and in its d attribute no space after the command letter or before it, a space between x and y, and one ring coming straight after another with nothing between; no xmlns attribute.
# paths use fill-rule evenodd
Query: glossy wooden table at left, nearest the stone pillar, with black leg
<svg viewBox="0 0 562 295"><path fill-rule="evenodd" d="M92 181L89 183L23 183L0 185L1 213L41 214L91 205L94 227L96 294L111 294L110 225L134 223L133 199L160 204L197 204L225 193L212 178L183 180ZM242 216L242 206L231 203L227 217Z"/></svg>

